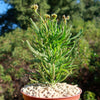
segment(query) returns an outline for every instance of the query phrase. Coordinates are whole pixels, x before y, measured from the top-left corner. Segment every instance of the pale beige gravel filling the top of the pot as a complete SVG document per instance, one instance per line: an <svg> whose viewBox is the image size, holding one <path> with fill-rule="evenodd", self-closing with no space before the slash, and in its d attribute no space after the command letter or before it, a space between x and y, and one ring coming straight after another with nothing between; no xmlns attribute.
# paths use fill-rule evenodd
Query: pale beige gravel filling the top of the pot
<svg viewBox="0 0 100 100"><path fill-rule="evenodd" d="M21 89L27 95L40 98L62 98L75 96L80 93L76 85L67 83L56 83L55 85L32 84L26 85Z"/></svg>

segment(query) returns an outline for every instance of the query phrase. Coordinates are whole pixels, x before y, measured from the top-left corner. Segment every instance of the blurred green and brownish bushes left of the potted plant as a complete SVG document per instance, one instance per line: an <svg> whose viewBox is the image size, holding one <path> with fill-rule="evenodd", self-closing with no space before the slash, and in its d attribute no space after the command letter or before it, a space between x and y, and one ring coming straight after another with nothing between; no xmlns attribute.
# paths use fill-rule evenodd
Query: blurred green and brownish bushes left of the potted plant
<svg viewBox="0 0 100 100"><path fill-rule="evenodd" d="M27 32L16 29L14 32L0 37L0 82L4 84L6 100L16 98L18 92L15 91L20 91L20 86L28 81L26 73L32 72L28 68L33 64L32 54L28 52L24 43L24 40L32 39L33 34L30 32L30 29ZM23 80L23 78L26 79Z"/></svg>

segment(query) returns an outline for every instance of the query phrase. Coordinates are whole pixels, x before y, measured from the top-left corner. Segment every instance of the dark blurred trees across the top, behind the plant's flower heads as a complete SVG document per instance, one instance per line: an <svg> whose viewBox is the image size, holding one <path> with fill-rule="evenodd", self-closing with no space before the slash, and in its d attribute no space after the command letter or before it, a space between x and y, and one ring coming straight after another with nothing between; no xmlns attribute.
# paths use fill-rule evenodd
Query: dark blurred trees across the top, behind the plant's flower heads
<svg viewBox="0 0 100 100"><path fill-rule="evenodd" d="M0 25L1 34L10 32L13 23L17 24L22 29L27 29L30 26L29 18L37 21L37 18L32 13L30 6L34 3L39 5L40 14L57 13L59 18L61 15L70 15L81 17L83 20L93 20L100 17L100 0L4 0L11 4L12 8L6 14L1 15ZM12 16L13 15L13 16ZM6 20L6 21L5 21Z"/></svg>

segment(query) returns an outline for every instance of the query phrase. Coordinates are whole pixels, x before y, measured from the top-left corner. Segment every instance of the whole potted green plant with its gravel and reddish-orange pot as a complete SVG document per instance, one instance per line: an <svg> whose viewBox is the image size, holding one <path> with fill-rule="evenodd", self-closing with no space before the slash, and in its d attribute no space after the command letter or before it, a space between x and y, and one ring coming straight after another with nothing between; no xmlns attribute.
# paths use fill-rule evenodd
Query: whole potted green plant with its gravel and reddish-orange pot
<svg viewBox="0 0 100 100"><path fill-rule="evenodd" d="M31 19L35 35L33 41L26 42L33 53L36 69L31 79L34 83L21 89L24 100L79 100L82 90L63 81L76 66L73 65L75 47L82 31L77 35L70 32L69 16L63 15L62 21L58 21L56 14L41 17L36 4L32 9L40 23L38 28Z"/></svg>

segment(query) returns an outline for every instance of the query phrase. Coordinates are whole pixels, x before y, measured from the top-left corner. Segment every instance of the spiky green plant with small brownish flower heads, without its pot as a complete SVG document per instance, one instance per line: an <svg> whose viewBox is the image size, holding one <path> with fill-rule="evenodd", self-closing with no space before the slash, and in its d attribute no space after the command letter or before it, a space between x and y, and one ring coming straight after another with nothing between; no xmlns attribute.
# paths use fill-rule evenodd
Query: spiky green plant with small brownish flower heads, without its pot
<svg viewBox="0 0 100 100"><path fill-rule="evenodd" d="M40 19L39 27L31 19L35 35L32 42L26 41L36 66L32 80L46 84L62 82L75 68L75 47L82 31L73 36L71 27L67 25L69 16L63 15L62 21L58 23L56 14L45 14L43 18L37 12L38 5L32 5L31 8Z"/></svg>

